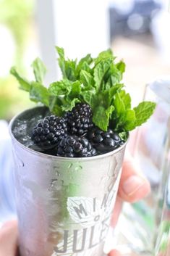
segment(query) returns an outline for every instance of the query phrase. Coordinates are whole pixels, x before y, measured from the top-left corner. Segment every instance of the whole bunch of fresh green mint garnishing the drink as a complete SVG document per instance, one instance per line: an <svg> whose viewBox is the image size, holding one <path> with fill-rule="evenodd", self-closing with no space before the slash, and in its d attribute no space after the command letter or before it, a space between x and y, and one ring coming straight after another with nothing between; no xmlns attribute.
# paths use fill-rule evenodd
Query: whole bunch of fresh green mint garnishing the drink
<svg viewBox="0 0 170 256"><path fill-rule="evenodd" d="M20 88L29 92L34 102L41 102L56 115L72 110L78 102L88 103L93 110L93 123L103 131L110 126L122 138L153 114L156 107L153 102L141 102L132 108L131 97L121 82L125 64L122 60L116 62L111 49L102 51L96 58L87 54L79 62L66 59L64 49L58 46L56 51L63 79L48 88L43 85L46 67L41 59L35 59L32 64L35 81L22 78L15 67L11 69Z"/></svg>

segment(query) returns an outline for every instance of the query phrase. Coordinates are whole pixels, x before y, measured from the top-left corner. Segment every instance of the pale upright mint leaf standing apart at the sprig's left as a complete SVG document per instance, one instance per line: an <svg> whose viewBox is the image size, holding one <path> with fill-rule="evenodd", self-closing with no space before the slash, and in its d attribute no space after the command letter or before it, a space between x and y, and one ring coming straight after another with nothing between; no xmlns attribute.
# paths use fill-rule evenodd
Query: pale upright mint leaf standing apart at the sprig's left
<svg viewBox="0 0 170 256"><path fill-rule="evenodd" d="M43 83L44 76L46 75L46 66L42 60L39 58L35 59L31 66L33 67L36 82Z"/></svg>

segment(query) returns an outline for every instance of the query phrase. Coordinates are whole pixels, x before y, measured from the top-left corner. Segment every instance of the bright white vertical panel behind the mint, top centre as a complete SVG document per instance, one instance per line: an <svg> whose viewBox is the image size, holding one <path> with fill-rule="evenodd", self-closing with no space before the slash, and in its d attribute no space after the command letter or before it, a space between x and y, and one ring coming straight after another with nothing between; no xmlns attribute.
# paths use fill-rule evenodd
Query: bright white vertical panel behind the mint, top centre
<svg viewBox="0 0 170 256"><path fill-rule="evenodd" d="M56 44L69 58L109 47L109 1L54 1Z"/></svg>

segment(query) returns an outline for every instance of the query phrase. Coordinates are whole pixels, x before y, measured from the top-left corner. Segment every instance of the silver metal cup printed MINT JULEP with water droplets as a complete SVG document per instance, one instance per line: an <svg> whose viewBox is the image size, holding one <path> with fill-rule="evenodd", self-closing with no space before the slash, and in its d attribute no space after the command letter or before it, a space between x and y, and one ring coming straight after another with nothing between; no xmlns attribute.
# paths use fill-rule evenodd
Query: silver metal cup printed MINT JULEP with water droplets
<svg viewBox="0 0 170 256"><path fill-rule="evenodd" d="M95 157L55 157L27 148L12 133L22 256L103 256L126 143Z"/></svg>

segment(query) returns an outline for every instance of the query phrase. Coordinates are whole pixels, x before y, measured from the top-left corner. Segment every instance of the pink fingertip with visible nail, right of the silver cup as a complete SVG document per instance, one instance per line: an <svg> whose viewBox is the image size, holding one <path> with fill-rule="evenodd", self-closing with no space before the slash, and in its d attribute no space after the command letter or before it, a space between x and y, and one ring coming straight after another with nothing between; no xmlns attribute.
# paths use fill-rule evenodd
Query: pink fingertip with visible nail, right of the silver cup
<svg viewBox="0 0 170 256"><path fill-rule="evenodd" d="M119 197L127 202L137 202L150 192L150 183L140 172L134 160L128 157L124 160L122 176L119 184Z"/></svg>

